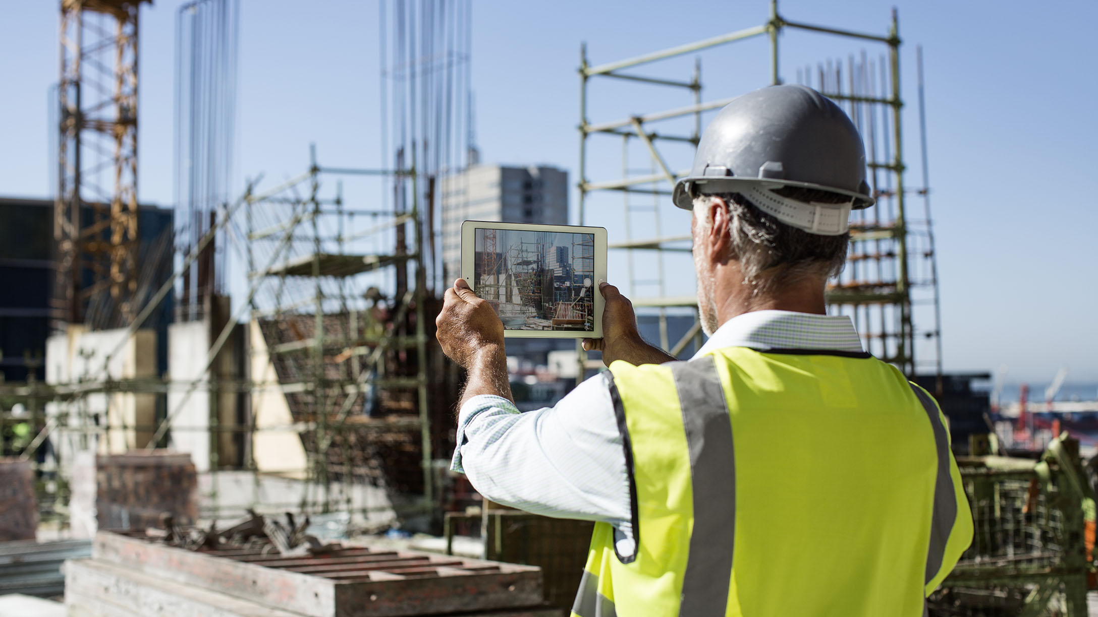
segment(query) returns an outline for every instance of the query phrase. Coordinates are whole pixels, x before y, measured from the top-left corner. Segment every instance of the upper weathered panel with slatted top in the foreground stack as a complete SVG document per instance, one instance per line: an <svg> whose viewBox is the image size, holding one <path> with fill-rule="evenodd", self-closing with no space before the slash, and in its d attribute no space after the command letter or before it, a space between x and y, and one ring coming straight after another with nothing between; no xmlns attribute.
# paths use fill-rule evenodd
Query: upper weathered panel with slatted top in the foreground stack
<svg viewBox="0 0 1098 617"><path fill-rule="evenodd" d="M542 607L541 572L533 566L369 547L336 547L298 557L270 554L267 548L191 551L144 534L100 531L92 556L159 580L309 617L501 609L536 615Z"/></svg>

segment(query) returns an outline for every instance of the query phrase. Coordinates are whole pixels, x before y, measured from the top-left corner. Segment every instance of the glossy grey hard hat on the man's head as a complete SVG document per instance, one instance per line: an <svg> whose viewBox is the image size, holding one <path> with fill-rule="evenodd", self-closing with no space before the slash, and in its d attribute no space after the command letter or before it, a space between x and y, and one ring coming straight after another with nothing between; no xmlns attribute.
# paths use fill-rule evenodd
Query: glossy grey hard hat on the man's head
<svg viewBox="0 0 1098 617"><path fill-rule="evenodd" d="M672 199L691 210L692 193L778 187L847 195L855 210L874 203L861 135L839 105L805 86L771 86L725 105Z"/></svg>

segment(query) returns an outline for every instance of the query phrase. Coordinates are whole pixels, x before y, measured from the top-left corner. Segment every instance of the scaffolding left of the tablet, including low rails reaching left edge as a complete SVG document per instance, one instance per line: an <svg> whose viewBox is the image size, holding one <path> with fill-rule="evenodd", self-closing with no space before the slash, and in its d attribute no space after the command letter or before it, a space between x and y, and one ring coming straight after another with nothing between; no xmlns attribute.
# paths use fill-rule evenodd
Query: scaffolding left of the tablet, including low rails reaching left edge
<svg viewBox="0 0 1098 617"><path fill-rule="evenodd" d="M410 184L410 203L395 210L349 206L341 182L326 179L372 176L394 186ZM35 437L23 451L32 460L46 439L71 440L76 450L117 451L164 447L172 436L205 433L210 439L208 469L211 491L204 515L232 517L219 502L216 476L226 470L253 475L250 507L296 508L305 513L367 513L360 500L362 486L383 489L397 516L430 514L438 518L438 484L441 475L436 457L452 451L450 408L456 397L457 371L448 367L434 340L434 315L441 302L427 289L422 260L422 211L417 176L413 167L395 170L325 168L315 157L305 173L272 189L247 192L219 212L213 225L199 238L125 330L121 344L86 358L87 369L71 381L0 384L0 399L24 402L27 413L0 411L5 424L30 422ZM401 233L397 234L397 231ZM112 378L112 364L124 345L177 284L213 238L228 232L242 249L247 265L247 289L232 315L210 332L209 349L197 379ZM403 244L392 242L400 235ZM377 247L390 247L379 251ZM395 247L395 250L392 248ZM381 289L411 280L386 296ZM380 284L378 284L380 283ZM250 319L247 317L250 316ZM244 325L254 324L261 340L245 338L244 355L273 366L273 375L240 374L223 378L220 362ZM434 375L429 381L427 375ZM291 418L287 424L257 425L251 397L273 392L284 397ZM163 418L155 424L121 424L112 420L113 407L133 396L169 395ZM247 400L242 422L224 422L217 411L223 395ZM172 397L175 396L175 397ZM180 417L191 397L209 396L205 426L188 426ZM102 401L99 413L89 407ZM46 406L53 411L47 412ZM434 427L434 430L433 430ZM299 436L307 456L300 478L302 494L291 503L272 503L260 494L255 438L267 430ZM110 444L122 436L123 442ZM139 442L130 444L136 439ZM225 439L239 439L243 461L223 460ZM128 444L128 445L127 445ZM105 448L105 450L104 450ZM69 450L64 450L68 452ZM54 449L54 461L40 471L55 486L46 501L56 504L53 514L66 517L71 460ZM239 502L239 500L237 500ZM388 506L386 506L388 507Z"/></svg>

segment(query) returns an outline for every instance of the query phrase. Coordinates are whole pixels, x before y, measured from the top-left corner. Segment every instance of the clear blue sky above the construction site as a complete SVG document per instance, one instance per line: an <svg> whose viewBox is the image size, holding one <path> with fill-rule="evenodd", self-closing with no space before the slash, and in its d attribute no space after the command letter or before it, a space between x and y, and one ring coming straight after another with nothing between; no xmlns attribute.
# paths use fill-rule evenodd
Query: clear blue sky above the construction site
<svg viewBox="0 0 1098 617"><path fill-rule="evenodd" d="M57 3L10 4L0 20L0 194L45 197ZM160 0L142 10L139 197L160 204L172 198L178 5ZM780 7L791 20L874 33L885 32L890 8L872 0ZM921 173L915 44L923 45L945 367L1006 364L1008 380L1046 381L1067 364L1068 381L1098 381L1098 3L925 0L897 8L914 186ZM768 13L764 0L475 0L472 87L482 160L556 165L574 184L582 41L598 64L757 25ZM702 55L706 97L765 85L761 43ZM795 65L861 48L784 34L783 77L792 81ZM688 66L652 70L685 75ZM323 161L379 166L373 2L242 0L239 75L240 182L260 171L273 181L301 171L310 142ZM596 96L591 115L605 113L592 120L616 120L606 115L612 109L668 106L628 89ZM681 168L688 159L670 162ZM669 227L676 224L681 229ZM687 233L687 225L669 218L664 233Z"/></svg>

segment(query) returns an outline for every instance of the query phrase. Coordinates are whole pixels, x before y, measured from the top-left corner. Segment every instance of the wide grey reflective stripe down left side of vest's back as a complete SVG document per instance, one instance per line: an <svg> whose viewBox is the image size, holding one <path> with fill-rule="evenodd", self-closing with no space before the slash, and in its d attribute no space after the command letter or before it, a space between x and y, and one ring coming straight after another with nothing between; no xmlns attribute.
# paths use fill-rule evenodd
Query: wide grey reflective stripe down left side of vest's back
<svg viewBox="0 0 1098 617"><path fill-rule="evenodd" d="M682 407L694 493L694 530L679 615L724 615L736 539L731 417L716 358L705 356L669 366Z"/></svg>

